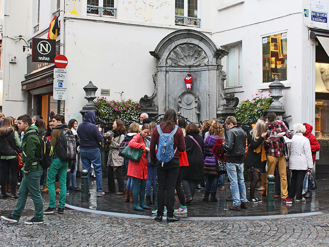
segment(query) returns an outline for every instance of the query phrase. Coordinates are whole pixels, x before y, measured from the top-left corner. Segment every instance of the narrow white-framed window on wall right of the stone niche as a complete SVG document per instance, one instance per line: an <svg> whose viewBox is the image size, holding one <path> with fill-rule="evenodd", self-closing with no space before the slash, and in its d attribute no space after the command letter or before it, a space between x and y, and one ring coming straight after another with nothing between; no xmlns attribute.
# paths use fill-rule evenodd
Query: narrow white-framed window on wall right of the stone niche
<svg viewBox="0 0 329 247"><path fill-rule="evenodd" d="M226 48L227 76L226 87L242 86L242 44Z"/></svg>

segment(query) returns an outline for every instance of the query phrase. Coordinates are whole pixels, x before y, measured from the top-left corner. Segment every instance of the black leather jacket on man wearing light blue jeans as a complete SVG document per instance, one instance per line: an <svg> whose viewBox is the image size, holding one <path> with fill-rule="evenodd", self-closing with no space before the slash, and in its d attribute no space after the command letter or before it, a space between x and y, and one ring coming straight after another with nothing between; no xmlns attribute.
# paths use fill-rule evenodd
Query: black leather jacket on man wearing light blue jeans
<svg viewBox="0 0 329 247"><path fill-rule="evenodd" d="M246 149L245 131L238 125L229 129L223 148L226 151L226 162L235 163L240 160L243 162Z"/></svg>

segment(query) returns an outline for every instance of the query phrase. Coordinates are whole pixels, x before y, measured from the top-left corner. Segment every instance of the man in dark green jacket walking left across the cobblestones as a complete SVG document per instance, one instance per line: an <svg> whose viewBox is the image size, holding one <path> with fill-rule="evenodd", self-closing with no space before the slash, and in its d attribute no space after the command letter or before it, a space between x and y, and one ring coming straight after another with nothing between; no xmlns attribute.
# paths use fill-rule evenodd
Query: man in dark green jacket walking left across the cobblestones
<svg viewBox="0 0 329 247"><path fill-rule="evenodd" d="M31 126L32 119L29 115L22 115L17 118L17 126L24 131L22 159L24 166L23 180L19 189L19 199L11 215L1 216L2 219L17 223L24 210L27 194L30 194L34 203L34 217L25 221L25 224L43 223L43 201L40 193L40 176L42 175L42 166L38 165L40 158L40 140L38 136L38 127Z"/></svg>

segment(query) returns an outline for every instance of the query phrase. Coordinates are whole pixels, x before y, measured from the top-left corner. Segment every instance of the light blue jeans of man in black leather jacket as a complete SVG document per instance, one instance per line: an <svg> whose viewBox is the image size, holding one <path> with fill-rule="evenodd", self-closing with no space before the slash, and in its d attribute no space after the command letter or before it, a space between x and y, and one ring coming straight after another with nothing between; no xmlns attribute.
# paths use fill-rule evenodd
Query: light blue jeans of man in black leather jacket
<svg viewBox="0 0 329 247"><path fill-rule="evenodd" d="M226 162L227 175L231 183L233 206L239 206L241 203L248 202L243 169L243 163L237 164Z"/></svg>

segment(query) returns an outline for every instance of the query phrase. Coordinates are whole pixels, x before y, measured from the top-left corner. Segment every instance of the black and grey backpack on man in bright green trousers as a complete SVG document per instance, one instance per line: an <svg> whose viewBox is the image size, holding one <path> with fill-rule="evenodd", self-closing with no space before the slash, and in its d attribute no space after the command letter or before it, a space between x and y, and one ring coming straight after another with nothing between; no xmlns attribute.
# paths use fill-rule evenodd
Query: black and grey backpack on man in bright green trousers
<svg viewBox="0 0 329 247"><path fill-rule="evenodd" d="M74 161L77 156L76 137L68 128L61 128L60 142L57 147L57 156L61 161Z"/></svg>

